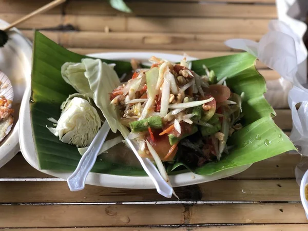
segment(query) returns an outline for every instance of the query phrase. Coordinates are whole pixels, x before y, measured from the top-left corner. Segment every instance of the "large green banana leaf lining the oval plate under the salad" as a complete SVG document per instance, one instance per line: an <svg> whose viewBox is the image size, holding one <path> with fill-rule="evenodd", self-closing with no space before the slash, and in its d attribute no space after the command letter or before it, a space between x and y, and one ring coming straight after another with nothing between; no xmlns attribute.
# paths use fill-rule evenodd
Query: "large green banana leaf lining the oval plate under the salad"
<svg viewBox="0 0 308 231"><path fill-rule="evenodd" d="M41 169L74 170L81 158L75 146L62 143L47 126L52 123L47 118L59 119L60 105L75 90L65 83L61 76L61 66L65 62L81 62L86 56L76 54L57 45L35 31L33 43L33 66L31 76L32 95L30 99L31 124L35 148ZM129 62L102 60L115 63L115 71L121 76L131 72ZM288 137L274 123L275 111L267 103L264 78L255 68L256 58L248 53L214 57L192 61L192 70L204 74L203 65L214 70L218 80L227 76L227 85L236 93L244 92L242 103L244 128L235 132L228 143L234 147L229 155L219 162L210 162L202 167L189 168L176 161L168 166L170 174L183 172L185 168L200 175L210 175L223 169L252 164L282 152L296 149ZM114 136L110 134L110 136ZM180 167L182 166L182 167ZM133 153L119 144L108 153L100 155L92 172L122 176L146 176Z"/></svg>

